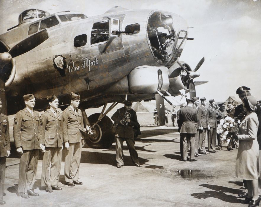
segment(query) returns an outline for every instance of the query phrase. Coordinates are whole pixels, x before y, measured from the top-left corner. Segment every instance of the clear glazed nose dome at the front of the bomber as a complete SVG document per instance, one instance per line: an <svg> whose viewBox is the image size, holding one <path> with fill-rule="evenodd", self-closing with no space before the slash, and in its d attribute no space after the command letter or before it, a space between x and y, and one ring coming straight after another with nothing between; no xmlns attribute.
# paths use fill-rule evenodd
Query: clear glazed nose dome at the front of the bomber
<svg viewBox="0 0 261 207"><path fill-rule="evenodd" d="M176 14L156 11L148 19L147 33L155 59L171 65L178 60L187 40L187 23Z"/></svg>

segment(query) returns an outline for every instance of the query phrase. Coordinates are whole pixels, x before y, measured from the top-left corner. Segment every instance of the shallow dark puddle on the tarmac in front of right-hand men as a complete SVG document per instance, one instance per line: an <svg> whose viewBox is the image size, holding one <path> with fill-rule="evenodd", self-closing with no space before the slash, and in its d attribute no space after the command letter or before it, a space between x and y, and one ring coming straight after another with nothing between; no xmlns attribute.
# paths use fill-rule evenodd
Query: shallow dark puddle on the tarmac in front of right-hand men
<svg viewBox="0 0 261 207"><path fill-rule="evenodd" d="M176 177L181 179L200 180L200 179L215 179L213 175L207 174L206 170L163 170L163 173L168 177Z"/></svg>

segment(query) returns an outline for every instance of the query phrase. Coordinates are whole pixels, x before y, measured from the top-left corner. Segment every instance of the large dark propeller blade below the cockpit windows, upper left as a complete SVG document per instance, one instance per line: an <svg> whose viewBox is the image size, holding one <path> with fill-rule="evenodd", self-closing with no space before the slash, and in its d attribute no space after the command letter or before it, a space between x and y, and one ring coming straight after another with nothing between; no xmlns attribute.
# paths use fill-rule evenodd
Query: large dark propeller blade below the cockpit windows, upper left
<svg viewBox="0 0 261 207"><path fill-rule="evenodd" d="M9 50L9 54L14 58L37 47L49 38L47 30L42 30L26 39L22 40Z"/></svg>

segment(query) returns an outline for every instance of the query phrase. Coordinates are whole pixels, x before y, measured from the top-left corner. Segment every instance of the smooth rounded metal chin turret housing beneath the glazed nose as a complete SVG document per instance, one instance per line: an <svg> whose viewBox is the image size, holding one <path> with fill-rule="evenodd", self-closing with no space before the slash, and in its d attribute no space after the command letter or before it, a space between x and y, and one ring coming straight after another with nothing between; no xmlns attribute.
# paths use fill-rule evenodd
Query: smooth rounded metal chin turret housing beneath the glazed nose
<svg viewBox="0 0 261 207"><path fill-rule="evenodd" d="M168 90L168 68L161 66L139 66L128 75L129 91L131 93L153 94L157 90L165 93Z"/></svg>

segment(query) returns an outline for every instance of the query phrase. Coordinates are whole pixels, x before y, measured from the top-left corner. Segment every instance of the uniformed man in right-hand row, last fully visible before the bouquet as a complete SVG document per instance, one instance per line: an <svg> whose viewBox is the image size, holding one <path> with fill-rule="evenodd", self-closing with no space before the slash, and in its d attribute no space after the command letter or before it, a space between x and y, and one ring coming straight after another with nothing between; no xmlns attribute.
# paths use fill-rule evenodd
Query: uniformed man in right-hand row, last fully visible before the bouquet
<svg viewBox="0 0 261 207"><path fill-rule="evenodd" d="M215 110L215 100L209 100L210 106L207 108L207 144L208 151L215 153L216 150L216 140L217 140L217 112Z"/></svg>

